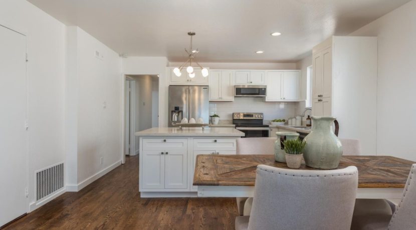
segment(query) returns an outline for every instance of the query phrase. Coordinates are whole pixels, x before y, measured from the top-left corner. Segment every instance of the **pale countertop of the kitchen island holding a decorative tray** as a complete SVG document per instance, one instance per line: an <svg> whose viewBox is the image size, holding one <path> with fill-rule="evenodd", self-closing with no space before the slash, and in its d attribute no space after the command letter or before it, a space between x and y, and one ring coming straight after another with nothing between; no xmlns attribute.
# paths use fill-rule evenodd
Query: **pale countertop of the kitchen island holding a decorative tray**
<svg viewBox="0 0 416 230"><path fill-rule="evenodd" d="M136 136L244 136L244 132L234 127L200 127L184 128L155 127L134 133Z"/></svg>

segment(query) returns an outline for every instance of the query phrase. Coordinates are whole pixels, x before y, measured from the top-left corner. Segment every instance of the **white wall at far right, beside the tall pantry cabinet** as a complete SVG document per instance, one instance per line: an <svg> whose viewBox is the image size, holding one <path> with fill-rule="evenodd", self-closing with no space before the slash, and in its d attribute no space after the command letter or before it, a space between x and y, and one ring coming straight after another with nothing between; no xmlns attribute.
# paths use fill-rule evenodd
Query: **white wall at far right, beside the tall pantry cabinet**
<svg viewBox="0 0 416 230"><path fill-rule="evenodd" d="M416 0L354 31L378 37L377 154L416 160Z"/></svg>

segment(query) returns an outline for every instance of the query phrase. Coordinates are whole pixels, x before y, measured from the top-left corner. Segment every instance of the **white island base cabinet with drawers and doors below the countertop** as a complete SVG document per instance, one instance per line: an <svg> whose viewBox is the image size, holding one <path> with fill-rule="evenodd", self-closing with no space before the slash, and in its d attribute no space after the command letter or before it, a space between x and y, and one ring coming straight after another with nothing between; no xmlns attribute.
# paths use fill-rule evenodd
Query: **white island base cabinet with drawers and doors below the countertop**
<svg viewBox="0 0 416 230"><path fill-rule="evenodd" d="M199 154L236 154L239 137L140 137L139 190L193 192Z"/></svg>

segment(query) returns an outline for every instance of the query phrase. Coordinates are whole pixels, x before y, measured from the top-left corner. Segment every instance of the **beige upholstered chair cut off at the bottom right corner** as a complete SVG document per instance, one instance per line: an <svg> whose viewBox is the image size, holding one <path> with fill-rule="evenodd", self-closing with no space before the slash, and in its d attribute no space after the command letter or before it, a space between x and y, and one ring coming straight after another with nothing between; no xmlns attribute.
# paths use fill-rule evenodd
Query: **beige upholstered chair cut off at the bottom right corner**
<svg viewBox="0 0 416 230"><path fill-rule="evenodd" d="M397 207L389 209L388 205L380 206L366 203L354 210L351 229L374 230L413 230L416 229L416 164L410 168L401 201ZM387 201L389 202L389 201ZM389 203L390 204L390 203ZM359 208L357 210L357 208Z"/></svg>

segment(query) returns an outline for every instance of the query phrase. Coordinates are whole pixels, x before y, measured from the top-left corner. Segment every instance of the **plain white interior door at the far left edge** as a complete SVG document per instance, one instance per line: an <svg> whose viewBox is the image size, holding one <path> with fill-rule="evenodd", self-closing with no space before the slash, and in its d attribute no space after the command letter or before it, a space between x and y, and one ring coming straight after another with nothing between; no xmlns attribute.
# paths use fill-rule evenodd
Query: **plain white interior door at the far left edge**
<svg viewBox="0 0 416 230"><path fill-rule="evenodd" d="M0 226L26 213L26 36L0 25Z"/></svg>

